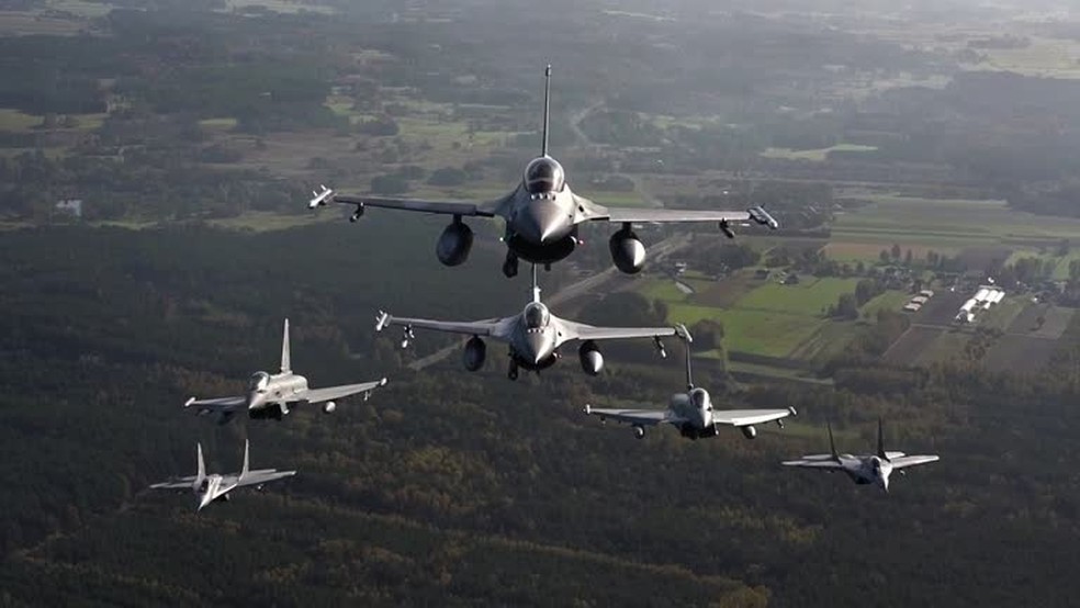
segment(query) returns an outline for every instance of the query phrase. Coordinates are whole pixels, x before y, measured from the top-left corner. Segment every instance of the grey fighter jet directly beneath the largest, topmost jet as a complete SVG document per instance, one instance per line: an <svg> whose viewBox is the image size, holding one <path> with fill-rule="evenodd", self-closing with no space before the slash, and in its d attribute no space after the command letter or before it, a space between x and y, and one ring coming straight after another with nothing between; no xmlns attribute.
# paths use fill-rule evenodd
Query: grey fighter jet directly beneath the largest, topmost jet
<svg viewBox="0 0 1080 608"><path fill-rule="evenodd" d="M525 309L511 317L474 322L445 322L424 318L395 317L380 311L375 318L375 331L382 331L390 325L404 328L402 348L414 339L413 329L423 327L451 334L472 335L465 342L463 362L469 371L476 371L484 365L487 345L483 338L491 338L509 346L509 369L507 376L517 380L518 369L540 372L555 363L561 357L559 347L570 340L582 342L577 353L582 369L589 375L597 375L604 369L604 356L600 354L596 342L622 338L653 338L661 357L667 357L664 336L675 336L683 331L680 327L594 327L584 323L575 323L559 318L551 314L540 302L540 288L537 286L536 266L532 267L532 302Z"/></svg>

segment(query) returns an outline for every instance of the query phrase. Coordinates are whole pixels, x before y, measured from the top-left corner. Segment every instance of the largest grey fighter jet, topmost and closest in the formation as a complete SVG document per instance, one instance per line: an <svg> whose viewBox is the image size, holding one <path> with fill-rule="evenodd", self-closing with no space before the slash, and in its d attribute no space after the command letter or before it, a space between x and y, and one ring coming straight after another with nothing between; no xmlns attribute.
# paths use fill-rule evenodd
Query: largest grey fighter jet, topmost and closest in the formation
<svg viewBox="0 0 1080 608"><path fill-rule="evenodd" d="M558 160L548 155L548 119L551 90L551 66L544 71L543 130L540 156L525 168L521 182L514 191L494 201L441 202L382 196L355 196L336 194L322 187L313 192L310 209L328 202L355 205L350 221L356 222L368 206L416 211L451 215L436 245L436 255L446 266L465 261L472 248L473 233L462 217L494 217L506 221L503 237L507 246L503 273L515 277L518 259L550 264L562 260L581 244L577 228L584 222L611 222L621 228L611 235L609 248L615 266L626 273L639 272L645 262L645 247L633 232L634 223L662 222L717 222L720 230L730 238L736 223L755 222L769 228L778 224L764 209L755 206L746 211L687 211L673 209L619 209L606 207L575 194L566 183L566 173Z"/></svg>

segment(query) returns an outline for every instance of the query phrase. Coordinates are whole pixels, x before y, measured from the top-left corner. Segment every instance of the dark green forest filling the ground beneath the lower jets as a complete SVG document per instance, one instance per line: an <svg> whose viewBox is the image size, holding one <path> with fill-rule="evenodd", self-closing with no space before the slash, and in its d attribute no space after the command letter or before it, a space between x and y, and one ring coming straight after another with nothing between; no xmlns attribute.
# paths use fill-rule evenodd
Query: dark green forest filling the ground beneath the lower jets
<svg viewBox="0 0 1080 608"><path fill-rule="evenodd" d="M439 267L439 227L5 233L4 601L1071 605L1080 326L1038 375L866 354L837 361L833 386L718 390L725 405L799 408L754 442L637 441L581 407L661 402L682 382L671 360L614 351L596 379L564 361L517 383L494 356L475 374L458 357L402 367L417 353L373 335L379 307L479 318L526 297L525 281L493 280L495 248ZM182 412L274 365L286 314L315 385L390 385L282 423ZM778 465L824 450L826 419L842 449L869 449L879 415L890 449L942 462L890 495ZM190 496L144 489L190 474L195 440L211 470L234 470L244 437L254 465L300 474L199 516Z"/></svg>

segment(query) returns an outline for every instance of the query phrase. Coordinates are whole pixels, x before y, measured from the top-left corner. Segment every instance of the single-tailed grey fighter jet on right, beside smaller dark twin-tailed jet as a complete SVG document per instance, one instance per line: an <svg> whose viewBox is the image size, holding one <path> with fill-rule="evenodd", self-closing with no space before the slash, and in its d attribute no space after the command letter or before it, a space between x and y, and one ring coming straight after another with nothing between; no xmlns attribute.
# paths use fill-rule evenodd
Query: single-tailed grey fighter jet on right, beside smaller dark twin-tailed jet
<svg viewBox="0 0 1080 608"><path fill-rule="evenodd" d="M720 426L733 426L743 431L746 439L757 437L754 425L776 421L784 428L788 415L796 414L794 407L787 409L728 409L713 410L709 392L694 385L690 371L690 333L682 327L686 340L686 392L672 395L667 409L604 409L585 405L586 416L599 416L600 421L608 418L620 423L629 423L638 439L645 436L645 426L668 424L678 429L683 437L698 439L699 437L716 437Z"/></svg>

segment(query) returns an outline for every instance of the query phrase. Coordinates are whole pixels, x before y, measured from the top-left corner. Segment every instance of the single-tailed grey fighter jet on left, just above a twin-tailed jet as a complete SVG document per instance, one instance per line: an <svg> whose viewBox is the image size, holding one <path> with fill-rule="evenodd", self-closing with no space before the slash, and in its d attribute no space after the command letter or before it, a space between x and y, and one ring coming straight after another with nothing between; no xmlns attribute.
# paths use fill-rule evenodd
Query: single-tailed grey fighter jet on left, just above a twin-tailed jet
<svg viewBox="0 0 1080 608"><path fill-rule="evenodd" d="M281 420L289 414L289 406L300 403L323 403L323 412L330 414L337 409L334 399L363 393L363 398L375 389L386 384L386 379L360 384L344 384L328 389L308 389L307 379L292 371L289 357L289 319L285 319L284 337L281 340L281 371L255 372L248 380L247 393L235 397L213 399L189 398L184 407L194 407L200 415L218 415L218 424L228 423L237 412L246 409L251 418L273 418Z"/></svg>

